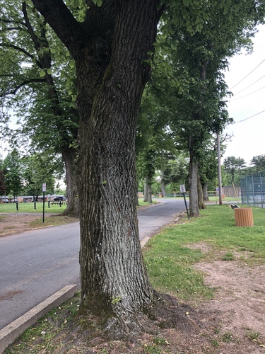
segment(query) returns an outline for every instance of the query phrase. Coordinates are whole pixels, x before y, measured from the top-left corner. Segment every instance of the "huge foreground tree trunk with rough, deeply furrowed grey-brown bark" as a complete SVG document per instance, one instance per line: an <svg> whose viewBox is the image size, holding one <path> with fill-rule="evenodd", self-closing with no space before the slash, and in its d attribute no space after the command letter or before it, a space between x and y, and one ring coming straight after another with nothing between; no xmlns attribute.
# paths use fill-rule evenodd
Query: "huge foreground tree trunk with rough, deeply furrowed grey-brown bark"
<svg viewBox="0 0 265 354"><path fill-rule="evenodd" d="M118 317L143 311L155 295L139 242L134 142L158 1L89 3L82 24L61 0L33 3L76 61L83 309Z"/></svg>

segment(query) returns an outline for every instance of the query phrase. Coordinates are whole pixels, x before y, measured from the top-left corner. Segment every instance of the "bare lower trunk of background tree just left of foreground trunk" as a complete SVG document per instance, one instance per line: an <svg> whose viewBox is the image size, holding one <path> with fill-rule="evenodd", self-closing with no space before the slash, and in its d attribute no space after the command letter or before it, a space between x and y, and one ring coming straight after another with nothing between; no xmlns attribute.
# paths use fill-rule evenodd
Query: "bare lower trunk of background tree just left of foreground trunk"
<svg viewBox="0 0 265 354"><path fill-rule="evenodd" d="M76 149L65 147L62 152L66 168L67 207L60 215L79 217L78 177L76 172Z"/></svg>

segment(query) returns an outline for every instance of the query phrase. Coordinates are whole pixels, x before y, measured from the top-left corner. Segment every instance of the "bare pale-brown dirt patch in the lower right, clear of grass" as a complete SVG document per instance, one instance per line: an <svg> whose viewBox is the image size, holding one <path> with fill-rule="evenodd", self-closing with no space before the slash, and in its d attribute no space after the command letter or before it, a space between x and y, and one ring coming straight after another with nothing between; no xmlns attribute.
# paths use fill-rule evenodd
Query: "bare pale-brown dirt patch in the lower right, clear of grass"
<svg viewBox="0 0 265 354"><path fill-rule="evenodd" d="M242 353L265 353L265 265L214 261L196 264L195 268L205 273L208 285L218 288L215 298L204 307L220 314L223 331L241 341L259 334L261 346Z"/></svg>

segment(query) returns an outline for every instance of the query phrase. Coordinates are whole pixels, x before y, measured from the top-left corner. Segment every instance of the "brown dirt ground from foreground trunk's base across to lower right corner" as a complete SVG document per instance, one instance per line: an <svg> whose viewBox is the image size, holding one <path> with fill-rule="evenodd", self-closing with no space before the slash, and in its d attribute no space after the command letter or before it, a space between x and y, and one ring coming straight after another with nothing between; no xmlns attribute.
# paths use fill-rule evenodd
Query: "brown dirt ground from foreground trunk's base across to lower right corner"
<svg viewBox="0 0 265 354"><path fill-rule="evenodd" d="M212 251L204 243L192 248ZM69 353L265 354L265 265L250 267L235 257L195 265L205 282L216 287L214 299L194 309L165 296L167 305L155 310L155 321L147 321L148 333L125 343L110 343L93 333L88 340L76 327L71 329Z"/></svg>

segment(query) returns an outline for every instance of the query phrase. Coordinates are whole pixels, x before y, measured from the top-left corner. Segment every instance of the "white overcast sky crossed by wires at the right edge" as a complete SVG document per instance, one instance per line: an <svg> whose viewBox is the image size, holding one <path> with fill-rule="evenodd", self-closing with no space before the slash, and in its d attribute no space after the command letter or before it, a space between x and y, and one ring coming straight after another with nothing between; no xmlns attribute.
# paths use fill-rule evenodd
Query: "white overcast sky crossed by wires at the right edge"
<svg viewBox="0 0 265 354"><path fill-rule="evenodd" d="M265 154L265 25L259 26L252 41L252 54L243 52L232 57L229 71L225 72L225 81L234 94L228 98L228 112L235 124L225 129L234 136L223 159L242 157L247 164L253 156Z"/></svg>

